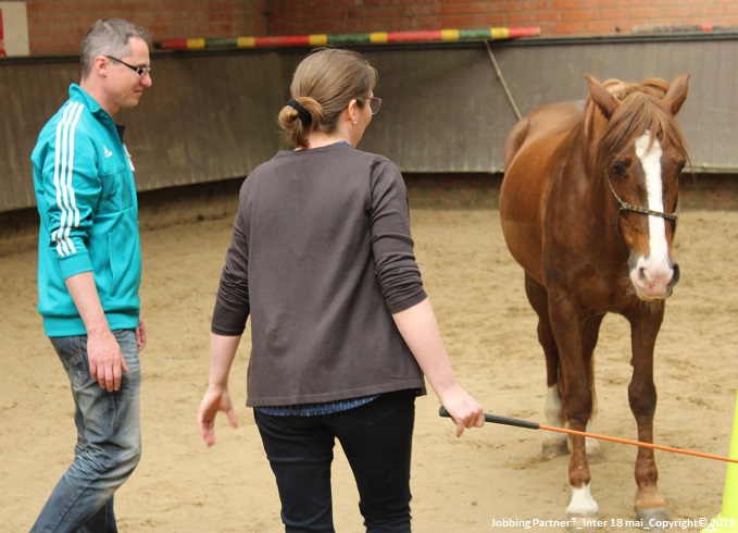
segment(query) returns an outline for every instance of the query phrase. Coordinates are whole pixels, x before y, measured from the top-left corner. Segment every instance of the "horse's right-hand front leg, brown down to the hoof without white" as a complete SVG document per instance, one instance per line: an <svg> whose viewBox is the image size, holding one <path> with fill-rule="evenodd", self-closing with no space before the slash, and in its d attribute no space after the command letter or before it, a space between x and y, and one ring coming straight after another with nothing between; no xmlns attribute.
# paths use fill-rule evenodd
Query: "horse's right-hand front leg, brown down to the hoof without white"
<svg viewBox="0 0 738 533"><path fill-rule="evenodd" d="M664 306L641 306L640 312L629 318L633 339L633 377L628 386L630 410L638 425L638 441L653 443L653 414L656 409L656 387L653 383L653 348L664 315ZM636 458L636 513L643 523L651 519L667 520L666 501L659 495L659 470L652 448L638 447Z"/></svg>

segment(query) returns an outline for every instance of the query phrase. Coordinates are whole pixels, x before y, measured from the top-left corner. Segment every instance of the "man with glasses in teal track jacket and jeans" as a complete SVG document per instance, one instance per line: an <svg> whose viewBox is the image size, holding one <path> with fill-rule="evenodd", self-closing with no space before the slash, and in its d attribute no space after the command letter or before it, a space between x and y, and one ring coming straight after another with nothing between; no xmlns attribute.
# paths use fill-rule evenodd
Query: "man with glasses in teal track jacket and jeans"
<svg viewBox="0 0 738 533"><path fill-rule="evenodd" d="M134 166L112 119L151 86L150 33L96 22L80 46L79 85L32 154L40 215L38 310L75 404L75 460L33 530L114 532L113 495L141 454L138 289L141 253Z"/></svg>

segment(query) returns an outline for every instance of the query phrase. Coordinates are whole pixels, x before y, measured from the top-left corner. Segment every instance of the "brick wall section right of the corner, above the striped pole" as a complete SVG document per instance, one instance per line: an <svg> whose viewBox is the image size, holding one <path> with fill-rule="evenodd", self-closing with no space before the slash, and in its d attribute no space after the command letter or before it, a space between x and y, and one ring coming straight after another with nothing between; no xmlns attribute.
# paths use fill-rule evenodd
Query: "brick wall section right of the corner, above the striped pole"
<svg viewBox="0 0 738 533"><path fill-rule="evenodd" d="M270 35L540 26L543 36L643 25L738 25L736 0L272 0Z"/></svg>

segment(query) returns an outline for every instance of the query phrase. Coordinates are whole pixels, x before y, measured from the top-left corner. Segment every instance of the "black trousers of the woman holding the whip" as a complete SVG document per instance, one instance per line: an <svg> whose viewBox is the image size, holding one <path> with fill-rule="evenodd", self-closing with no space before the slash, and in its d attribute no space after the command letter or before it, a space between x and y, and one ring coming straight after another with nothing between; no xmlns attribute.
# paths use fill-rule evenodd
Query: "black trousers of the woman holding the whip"
<svg viewBox="0 0 738 533"><path fill-rule="evenodd" d="M333 533L330 463L341 444L367 532L410 532L410 456L415 392L383 394L348 411L274 417L254 410L277 481L286 532Z"/></svg>

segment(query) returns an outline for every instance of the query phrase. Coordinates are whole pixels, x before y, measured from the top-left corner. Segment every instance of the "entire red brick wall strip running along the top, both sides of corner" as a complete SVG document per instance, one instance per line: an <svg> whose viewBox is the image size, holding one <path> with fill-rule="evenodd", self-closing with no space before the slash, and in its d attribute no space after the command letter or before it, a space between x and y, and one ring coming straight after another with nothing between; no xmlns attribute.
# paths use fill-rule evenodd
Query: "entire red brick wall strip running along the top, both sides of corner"
<svg viewBox="0 0 738 533"><path fill-rule="evenodd" d="M76 54L89 25L120 16L155 40L539 26L615 35L652 26L738 27L736 0L27 0L32 55Z"/></svg>

